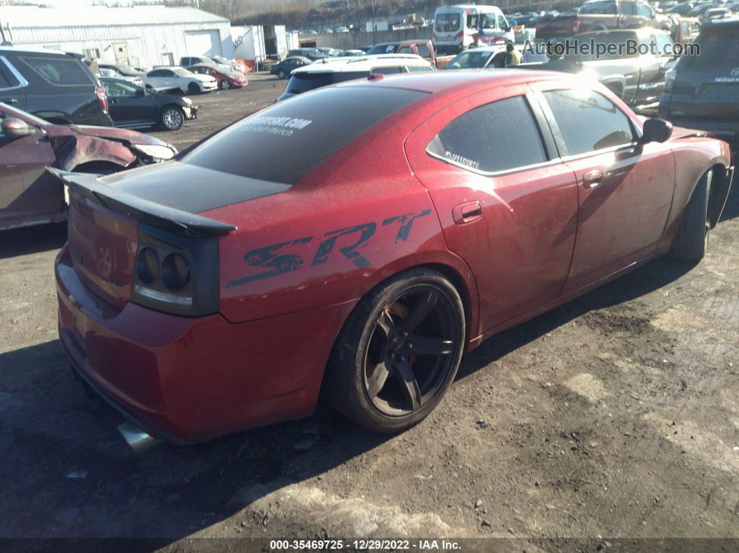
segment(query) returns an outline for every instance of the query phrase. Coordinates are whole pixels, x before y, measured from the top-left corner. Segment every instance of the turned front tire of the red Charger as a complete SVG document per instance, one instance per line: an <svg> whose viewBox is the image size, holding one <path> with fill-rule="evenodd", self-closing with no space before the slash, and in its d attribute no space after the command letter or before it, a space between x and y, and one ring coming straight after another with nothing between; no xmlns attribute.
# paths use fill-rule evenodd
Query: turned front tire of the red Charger
<svg viewBox="0 0 739 553"><path fill-rule="evenodd" d="M680 221L670 255L682 261L698 263L706 255L711 221L708 216L708 200L711 196L713 171L706 171L695 186L683 219Z"/></svg>

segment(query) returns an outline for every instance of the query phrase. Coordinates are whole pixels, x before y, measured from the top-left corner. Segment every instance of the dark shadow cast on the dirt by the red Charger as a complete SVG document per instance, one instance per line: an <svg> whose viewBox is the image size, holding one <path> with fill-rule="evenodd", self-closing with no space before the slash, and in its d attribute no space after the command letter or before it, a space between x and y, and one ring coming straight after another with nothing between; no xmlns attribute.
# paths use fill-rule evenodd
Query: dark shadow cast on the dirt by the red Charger
<svg viewBox="0 0 739 553"><path fill-rule="evenodd" d="M49 240L50 247L58 244ZM653 292L690 268L652 261L498 334L463 360L457 379L576 317ZM165 546L245 508L236 524L251 524L264 515L248 508L252 501L290 484L320 487L317 478L395 439L319 403L301 421L189 447L159 444L136 456L116 430L123 419L85 398L57 340L0 354L0 382L0 436L7 438L0 440L0 458L12 461L5 463L0 489L6 513L0 535L6 537L168 536L152 542Z"/></svg>

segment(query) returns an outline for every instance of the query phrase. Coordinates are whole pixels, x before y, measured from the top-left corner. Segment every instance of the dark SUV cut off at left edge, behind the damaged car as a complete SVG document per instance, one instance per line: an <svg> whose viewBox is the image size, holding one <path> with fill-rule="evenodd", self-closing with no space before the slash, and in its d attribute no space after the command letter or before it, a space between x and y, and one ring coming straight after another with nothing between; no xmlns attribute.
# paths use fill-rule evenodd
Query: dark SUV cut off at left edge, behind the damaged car
<svg viewBox="0 0 739 553"><path fill-rule="evenodd" d="M64 52L0 47L0 102L59 125L113 124L98 79Z"/></svg>

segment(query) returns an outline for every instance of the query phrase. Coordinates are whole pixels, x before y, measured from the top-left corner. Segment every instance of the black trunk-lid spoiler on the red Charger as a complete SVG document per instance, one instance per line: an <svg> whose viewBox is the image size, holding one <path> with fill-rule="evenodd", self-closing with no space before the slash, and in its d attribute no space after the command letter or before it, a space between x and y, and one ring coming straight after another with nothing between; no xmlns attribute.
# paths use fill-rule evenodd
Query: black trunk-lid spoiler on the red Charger
<svg viewBox="0 0 739 553"><path fill-rule="evenodd" d="M47 167L47 171L69 186L70 190L74 190L115 213L134 217L154 227L166 228L190 236L219 236L236 230L234 224L150 202L118 188L104 185L98 180L101 175L74 173L53 167Z"/></svg>

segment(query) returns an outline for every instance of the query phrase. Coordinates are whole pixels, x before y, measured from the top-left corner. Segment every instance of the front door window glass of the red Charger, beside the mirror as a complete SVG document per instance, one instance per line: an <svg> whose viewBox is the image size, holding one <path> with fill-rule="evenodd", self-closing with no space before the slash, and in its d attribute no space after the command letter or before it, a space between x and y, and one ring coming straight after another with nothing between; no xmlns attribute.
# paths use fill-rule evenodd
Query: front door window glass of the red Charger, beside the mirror
<svg viewBox="0 0 739 553"><path fill-rule="evenodd" d="M568 155L611 148L633 140L629 118L598 92L587 89L544 92Z"/></svg>

